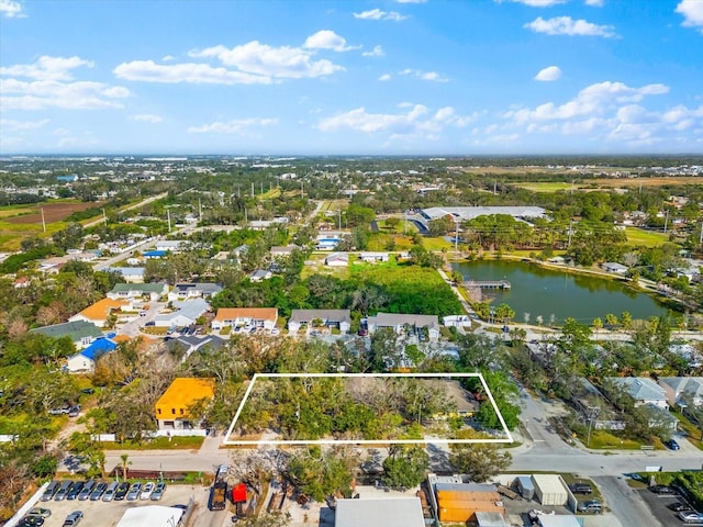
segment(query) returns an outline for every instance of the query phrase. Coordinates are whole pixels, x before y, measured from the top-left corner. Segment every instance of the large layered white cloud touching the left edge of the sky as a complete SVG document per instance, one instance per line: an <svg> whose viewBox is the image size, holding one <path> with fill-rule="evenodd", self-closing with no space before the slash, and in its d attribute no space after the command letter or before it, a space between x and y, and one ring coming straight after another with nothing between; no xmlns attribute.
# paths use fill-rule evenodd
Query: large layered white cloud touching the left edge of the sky
<svg viewBox="0 0 703 527"><path fill-rule="evenodd" d="M130 90L104 82L75 81L71 70L80 66L92 63L79 57L43 56L35 64L2 67L2 76L36 80L0 79L0 105L12 110L122 108L118 100L130 97Z"/></svg>

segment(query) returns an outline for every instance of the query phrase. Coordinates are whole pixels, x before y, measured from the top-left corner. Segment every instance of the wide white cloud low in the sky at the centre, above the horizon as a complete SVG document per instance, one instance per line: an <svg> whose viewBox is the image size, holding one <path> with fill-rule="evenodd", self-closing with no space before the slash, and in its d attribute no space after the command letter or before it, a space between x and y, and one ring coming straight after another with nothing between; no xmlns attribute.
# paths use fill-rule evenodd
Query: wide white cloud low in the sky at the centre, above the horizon
<svg viewBox="0 0 703 527"><path fill-rule="evenodd" d="M462 127L477 119L473 115L457 115L454 108L440 108L434 114L423 104L401 103L406 110L401 113L368 113L365 108L357 108L346 113L323 119L317 128L323 132L335 132L343 128L354 130L366 134L389 132L391 138L401 136L422 136L436 138L436 134L446 126Z"/></svg>

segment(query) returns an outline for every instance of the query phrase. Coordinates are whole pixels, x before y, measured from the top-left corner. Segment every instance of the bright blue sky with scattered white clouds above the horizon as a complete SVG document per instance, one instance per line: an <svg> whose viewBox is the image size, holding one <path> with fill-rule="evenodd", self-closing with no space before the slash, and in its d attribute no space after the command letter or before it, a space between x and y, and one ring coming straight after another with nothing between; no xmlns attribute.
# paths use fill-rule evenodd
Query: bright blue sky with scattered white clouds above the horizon
<svg viewBox="0 0 703 527"><path fill-rule="evenodd" d="M0 154L703 153L703 0L0 0Z"/></svg>

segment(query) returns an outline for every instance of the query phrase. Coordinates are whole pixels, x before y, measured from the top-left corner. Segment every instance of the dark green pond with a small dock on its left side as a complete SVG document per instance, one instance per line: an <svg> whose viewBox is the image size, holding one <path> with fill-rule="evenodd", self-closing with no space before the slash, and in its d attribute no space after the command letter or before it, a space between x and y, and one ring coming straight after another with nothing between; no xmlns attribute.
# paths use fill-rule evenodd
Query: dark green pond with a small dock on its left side
<svg viewBox="0 0 703 527"><path fill-rule="evenodd" d="M624 284L592 276L572 274L545 269L535 264L509 260L478 260L453 264L466 280L507 280L510 290L483 290L483 300L491 305L509 304L515 311L515 322L544 324L576 318L591 325L594 318L605 322L605 315L627 311L633 318L647 319L667 314L668 310L651 296Z"/></svg>

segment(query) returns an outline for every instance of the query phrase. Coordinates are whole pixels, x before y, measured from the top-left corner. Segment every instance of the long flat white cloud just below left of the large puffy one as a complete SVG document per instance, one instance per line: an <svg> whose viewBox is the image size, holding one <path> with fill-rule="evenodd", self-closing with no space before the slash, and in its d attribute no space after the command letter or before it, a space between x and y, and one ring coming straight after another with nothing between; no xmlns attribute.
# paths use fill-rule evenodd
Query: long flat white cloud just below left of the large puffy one
<svg viewBox="0 0 703 527"><path fill-rule="evenodd" d="M209 64L156 64L154 60L133 60L123 63L113 72L126 80L145 82L193 85L270 85L272 79L263 75L233 71L227 68L213 68Z"/></svg>

